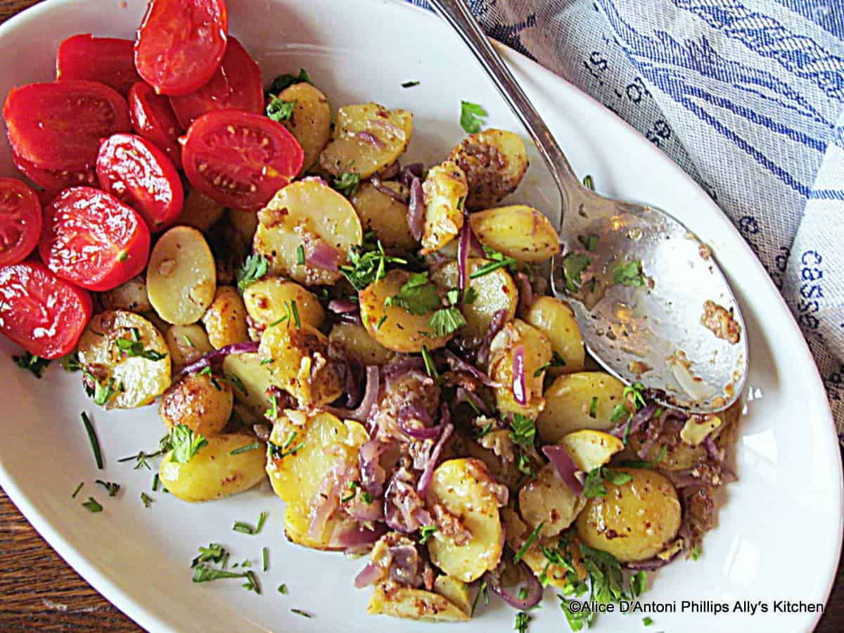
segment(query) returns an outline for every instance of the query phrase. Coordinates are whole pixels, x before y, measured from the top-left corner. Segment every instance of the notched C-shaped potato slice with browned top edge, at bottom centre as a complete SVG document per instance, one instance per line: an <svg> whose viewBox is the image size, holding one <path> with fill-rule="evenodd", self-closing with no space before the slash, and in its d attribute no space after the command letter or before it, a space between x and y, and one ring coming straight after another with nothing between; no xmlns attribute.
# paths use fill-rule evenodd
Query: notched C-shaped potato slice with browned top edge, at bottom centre
<svg viewBox="0 0 844 633"><path fill-rule="evenodd" d="M468 543L462 545L441 531L428 541L431 562L457 580L472 582L495 569L501 558L504 533L498 516L496 485L478 459L451 459L434 471L428 506L442 504L472 534Z"/></svg>

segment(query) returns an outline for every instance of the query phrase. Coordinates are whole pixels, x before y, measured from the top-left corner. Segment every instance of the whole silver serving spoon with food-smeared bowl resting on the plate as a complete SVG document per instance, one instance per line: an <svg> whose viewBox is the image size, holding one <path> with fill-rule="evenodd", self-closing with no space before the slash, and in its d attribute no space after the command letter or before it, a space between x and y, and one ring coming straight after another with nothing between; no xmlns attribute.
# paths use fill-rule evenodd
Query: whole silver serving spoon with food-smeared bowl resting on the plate
<svg viewBox="0 0 844 633"><path fill-rule="evenodd" d="M747 338L709 248L658 208L583 187L464 0L429 3L490 76L560 189L561 253L551 286L574 309L589 353L659 403L693 413L727 408L747 376Z"/></svg>

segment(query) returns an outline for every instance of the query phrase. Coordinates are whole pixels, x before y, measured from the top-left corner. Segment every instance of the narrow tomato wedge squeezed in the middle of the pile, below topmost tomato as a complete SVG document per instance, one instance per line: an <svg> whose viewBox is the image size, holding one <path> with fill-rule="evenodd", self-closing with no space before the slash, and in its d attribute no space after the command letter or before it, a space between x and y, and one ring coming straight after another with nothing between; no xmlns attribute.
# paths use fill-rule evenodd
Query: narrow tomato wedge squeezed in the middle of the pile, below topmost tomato
<svg viewBox="0 0 844 633"><path fill-rule="evenodd" d="M129 90L129 116L135 133L155 143L181 170L179 137L185 129L176 119L170 100L156 95L149 84L138 82Z"/></svg>

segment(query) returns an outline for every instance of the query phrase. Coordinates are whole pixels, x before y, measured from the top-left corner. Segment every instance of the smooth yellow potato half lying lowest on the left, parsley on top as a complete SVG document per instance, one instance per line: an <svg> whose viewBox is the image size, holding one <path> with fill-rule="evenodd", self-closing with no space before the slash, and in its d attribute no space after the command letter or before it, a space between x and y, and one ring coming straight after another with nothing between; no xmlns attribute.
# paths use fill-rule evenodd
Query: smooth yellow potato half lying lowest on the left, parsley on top
<svg viewBox="0 0 844 633"><path fill-rule="evenodd" d="M231 452L255 442L248 433L226 433L208 437L208 445L199 449L188 463L175 462L172 452L161 460L161 484L185 501L209 501L236 495L260 484L264 472L264 452Z"/></svg>

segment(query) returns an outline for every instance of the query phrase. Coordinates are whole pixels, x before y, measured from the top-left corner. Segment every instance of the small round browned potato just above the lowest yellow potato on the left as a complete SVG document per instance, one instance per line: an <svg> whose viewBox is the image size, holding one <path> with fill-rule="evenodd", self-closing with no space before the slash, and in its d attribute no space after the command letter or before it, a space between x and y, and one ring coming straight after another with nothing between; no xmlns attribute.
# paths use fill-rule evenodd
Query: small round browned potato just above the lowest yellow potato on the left
<svg viewBox="0 0 844 633"><path fill-rule="evenodd" d="M231 408L235 403L227 381L212 376L185 376L174 382L164 392L159 405L159 415L165 425L189 426L204 437L219 435L229 423Z"/></svg>

